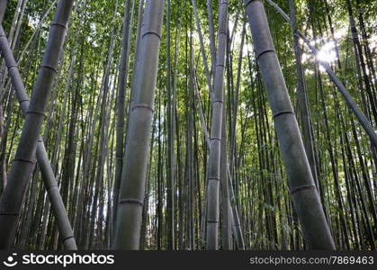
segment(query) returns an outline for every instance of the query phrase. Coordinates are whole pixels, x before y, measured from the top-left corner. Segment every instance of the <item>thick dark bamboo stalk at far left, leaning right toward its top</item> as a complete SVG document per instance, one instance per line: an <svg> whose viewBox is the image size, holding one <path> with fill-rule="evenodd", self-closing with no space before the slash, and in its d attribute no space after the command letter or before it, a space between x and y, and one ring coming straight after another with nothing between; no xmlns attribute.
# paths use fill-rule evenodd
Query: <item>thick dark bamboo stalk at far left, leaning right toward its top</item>
<svg viewBox="0 0 377 270"><path fill-rule="evenodd" d="M0 248L13 246L22 208L23 195L34 166L40 138L40 128L49 101L49 93L58 68L58 56L66 37L67 22L73 0L61 0L49 31L49 40L43 55L40 74L34 85L31 103L26 112L21 139L13 160L8 184L0 198ZM23 103L23 100L22 100Z"/></svg>

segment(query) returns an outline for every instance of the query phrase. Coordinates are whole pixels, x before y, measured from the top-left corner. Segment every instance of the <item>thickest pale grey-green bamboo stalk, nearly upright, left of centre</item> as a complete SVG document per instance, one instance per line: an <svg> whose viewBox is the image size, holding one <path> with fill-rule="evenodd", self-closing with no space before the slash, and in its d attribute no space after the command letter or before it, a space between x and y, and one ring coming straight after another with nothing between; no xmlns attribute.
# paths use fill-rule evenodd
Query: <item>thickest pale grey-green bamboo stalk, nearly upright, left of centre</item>
<svg viewBox="0 0 377 270"><path fill-rule="evenodd" d="M121 172L121 190L114 247L139 249L141 214L147 177L148 148L157 81L164 0L148 0L141 35L141 60L130 108L127 144Z"/></svg>

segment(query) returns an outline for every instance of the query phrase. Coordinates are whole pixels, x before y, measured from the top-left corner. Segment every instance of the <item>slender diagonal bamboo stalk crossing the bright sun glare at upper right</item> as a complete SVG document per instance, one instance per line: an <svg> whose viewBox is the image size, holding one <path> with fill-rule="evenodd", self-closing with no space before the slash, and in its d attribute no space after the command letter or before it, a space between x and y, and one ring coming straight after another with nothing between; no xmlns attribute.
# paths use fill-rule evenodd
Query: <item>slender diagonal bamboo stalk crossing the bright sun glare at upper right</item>
<svg viewBox="0 0 377 270"><path fill-rule="evenodd" d="M291 22L290 17L287 14L285 14L283 12L283 10L277 4L275 4L271 0L266 0L266 1L269 4L271 4L271 5L274 6L275 10L279 14L281 14L283 16L283 18L284 18L285 21L287 21L288 23ZM311 45L310 40L300 30L293 29L293 31L295 31L295 34L297 34L297 35L299 35L301 37L301 39L305 42L305 44L309 47L309 49L311 50L311 52L314 55L318 54L318 50L316 49L316 47L314 47L313 45ZM358 107L357 103L355 103L355 100L352 97L352 95L349 94L349 92L347 91L346 86L337 77L337 75L335 74L334 70L330 67L330 65L327 62L320 61L318 58L316 58L316 61L318 61L319 64L323 68L325 68L326 72L328 73L328 76L334 82L334 84L337 86L337 89L339 89L340 93L343 94L343 96L346 99L346 103L351 108L351 110L355 113L358 121L360 122L360 124L362 125L362 127L364 128L364 130L366 131L366 133L369 135L373 146L375 148L377 148L377 134L373 130L373 126L372 126L371 122L365 117L364 113L360 110L360 108Z"/></svg>

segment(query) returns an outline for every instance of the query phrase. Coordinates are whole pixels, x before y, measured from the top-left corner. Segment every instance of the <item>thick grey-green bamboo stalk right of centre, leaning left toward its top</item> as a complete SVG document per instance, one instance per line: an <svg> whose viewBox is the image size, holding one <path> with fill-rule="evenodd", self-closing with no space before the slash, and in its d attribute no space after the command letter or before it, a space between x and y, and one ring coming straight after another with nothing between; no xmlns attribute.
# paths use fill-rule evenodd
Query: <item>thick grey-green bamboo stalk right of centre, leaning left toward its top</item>
<svg viewBox="0 0 377 270"><path fill-rule="evenodd" d="M245 0L256 49L256 60L265 81L274 126L288 175L294 206L310 249L335 249L334 240L310 171L301 133L277 58L263 2Z"/></svg>

